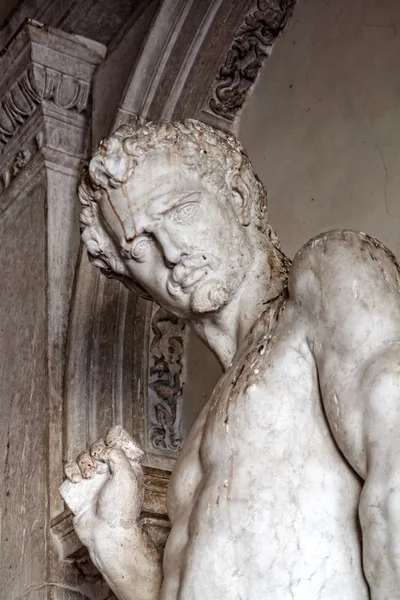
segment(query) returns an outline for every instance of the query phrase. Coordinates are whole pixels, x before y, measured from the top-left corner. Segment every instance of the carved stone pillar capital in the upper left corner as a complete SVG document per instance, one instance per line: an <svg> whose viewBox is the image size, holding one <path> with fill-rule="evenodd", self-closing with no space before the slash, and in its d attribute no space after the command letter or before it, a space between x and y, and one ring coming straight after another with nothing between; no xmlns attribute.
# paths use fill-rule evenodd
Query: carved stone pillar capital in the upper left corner
<svg viewBox="0 0 400 600"><path fill-rule="evenodd" d="M0 55L1 191L43 145L86 155L85 112L93 74L104 54L100 44L33 21L26 22L4 48Z"/></svg>

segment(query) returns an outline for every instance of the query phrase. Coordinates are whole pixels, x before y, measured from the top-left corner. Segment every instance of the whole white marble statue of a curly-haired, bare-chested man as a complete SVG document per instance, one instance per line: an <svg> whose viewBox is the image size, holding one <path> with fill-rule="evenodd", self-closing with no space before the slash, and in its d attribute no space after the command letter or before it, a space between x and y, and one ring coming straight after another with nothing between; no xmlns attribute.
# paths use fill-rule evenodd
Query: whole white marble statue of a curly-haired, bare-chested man
<svg viewBox="0 0 400 600"><path fill-rule="evenodd" d="M224 369L172 473L163 565L128 433L66 466L76 532L115 595L400 599L394 256L331 231L290 264L241 144L195 120L118 129L79 196L93 264L186 320Z"/></svg>

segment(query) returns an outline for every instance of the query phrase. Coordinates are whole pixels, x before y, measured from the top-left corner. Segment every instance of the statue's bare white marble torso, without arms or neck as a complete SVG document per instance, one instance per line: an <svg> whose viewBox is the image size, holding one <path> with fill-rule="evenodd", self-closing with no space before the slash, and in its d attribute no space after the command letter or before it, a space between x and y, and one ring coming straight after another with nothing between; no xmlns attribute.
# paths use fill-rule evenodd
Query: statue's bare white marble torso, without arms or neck
<svg viewBox="0 0 400 600"><path fill-rule="evenodd" d="M368 597L360 483L326 424L311 355L284 320L225 374L177 465L165 600Z"/></svg>

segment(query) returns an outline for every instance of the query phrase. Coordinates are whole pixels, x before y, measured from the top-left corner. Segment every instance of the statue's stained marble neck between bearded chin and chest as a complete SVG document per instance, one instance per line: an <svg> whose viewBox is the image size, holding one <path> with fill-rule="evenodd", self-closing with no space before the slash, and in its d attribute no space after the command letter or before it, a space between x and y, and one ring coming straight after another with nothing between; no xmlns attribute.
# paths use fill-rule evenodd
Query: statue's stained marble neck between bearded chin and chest
<svg viewBox="0 0 400 600"><path fill-rule="evenodd" d="M285 294L290 261L275 247L257 252L254 266L235 297L216 314L192 322L226 371L261 314L274 311L274 299Z"/></svg>

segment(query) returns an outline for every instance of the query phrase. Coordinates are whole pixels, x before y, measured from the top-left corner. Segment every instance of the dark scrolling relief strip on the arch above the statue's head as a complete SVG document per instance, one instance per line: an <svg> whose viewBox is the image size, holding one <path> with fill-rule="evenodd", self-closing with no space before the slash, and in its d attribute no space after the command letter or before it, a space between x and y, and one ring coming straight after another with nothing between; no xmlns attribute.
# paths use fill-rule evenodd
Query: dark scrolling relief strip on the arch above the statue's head
<svg viewBox="0 0 400 600"><path fill-rule="evenodd" d="M234 120L295 4L296 0L257 0L256 8L239 28L214 82L208 105L216 115Z"/></svg>

